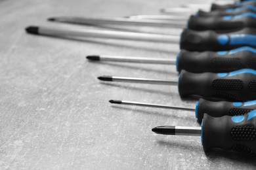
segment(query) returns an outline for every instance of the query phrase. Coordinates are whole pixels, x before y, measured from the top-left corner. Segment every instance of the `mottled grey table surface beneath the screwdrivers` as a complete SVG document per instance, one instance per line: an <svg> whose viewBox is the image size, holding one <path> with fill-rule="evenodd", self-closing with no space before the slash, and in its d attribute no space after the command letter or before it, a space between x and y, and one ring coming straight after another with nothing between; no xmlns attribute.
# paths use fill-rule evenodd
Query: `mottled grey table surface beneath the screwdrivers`
<svg viewBox="0 0 256 170"><path fill-rule="evenodd" d="M255 169L240 154L203 152L200 137L152 133L161 125L200 126L191 112L112 106L123 99L194 107L175 86L102 83L100 75L177 79L175 66L91 63L108 54L173 58L178 44L28 35L51 16L121 17L209 1L0 1L0 169ZM92 27L90 27L92 28ZM102 29L102 28L100 28ZM114 29L111 27L110 29ZM179 34L179 29L115 27Z"/></svg>

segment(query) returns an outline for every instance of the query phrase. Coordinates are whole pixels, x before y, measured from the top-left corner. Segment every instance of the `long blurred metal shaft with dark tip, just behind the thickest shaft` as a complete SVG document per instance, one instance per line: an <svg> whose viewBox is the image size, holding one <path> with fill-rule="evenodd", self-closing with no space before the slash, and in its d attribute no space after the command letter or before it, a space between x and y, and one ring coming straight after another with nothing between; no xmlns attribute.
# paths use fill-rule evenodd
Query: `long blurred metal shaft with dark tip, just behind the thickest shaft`
<svg viewBox="0 0 256 170"><path fill-rule="evenodd" d="M54 22L66 22L81 25L137 25L137 26L152 26L152 27L175 27L183 28L186 24L179 21L163 21L163 20L130 20L129 18L82 18L82 17L56 17L50 18Z"/></svg>

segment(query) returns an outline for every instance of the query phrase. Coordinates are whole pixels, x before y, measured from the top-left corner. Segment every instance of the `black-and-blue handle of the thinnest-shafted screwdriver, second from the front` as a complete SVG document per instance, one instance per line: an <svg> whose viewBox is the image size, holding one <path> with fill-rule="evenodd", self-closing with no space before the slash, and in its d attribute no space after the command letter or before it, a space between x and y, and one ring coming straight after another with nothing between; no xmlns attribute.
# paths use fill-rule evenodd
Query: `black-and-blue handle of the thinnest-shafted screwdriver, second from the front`
<svg viewBox="0 0 256 170"><path fill-rule="evenodd" d="M228 101L208 101L199 99L196 103L196 118L198 122L202 122L203 114L207 113L209 116L241 116L256 110L256 100L242 102L228 102Z"/></svg>

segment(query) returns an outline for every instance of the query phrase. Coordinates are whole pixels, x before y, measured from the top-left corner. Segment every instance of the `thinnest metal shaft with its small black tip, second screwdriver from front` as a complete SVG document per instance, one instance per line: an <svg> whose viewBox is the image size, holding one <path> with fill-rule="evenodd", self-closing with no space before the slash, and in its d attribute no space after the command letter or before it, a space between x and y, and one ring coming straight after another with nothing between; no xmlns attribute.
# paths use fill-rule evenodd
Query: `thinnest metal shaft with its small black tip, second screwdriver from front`
<svg viewBox="0 0 256 170"><path fill-rule="evenodd" d="M175 107L175 106L168 106L168 105L155 105L150 103L139 103L135 101L117 101L117 100L111 100L110 103L116 103L121 105L135 105L140 107L155 107L155 108L161 108L161 109L175 109L175 110L186 110L194 112L195 109L192 108L186 108L186 107Z"/></svg>

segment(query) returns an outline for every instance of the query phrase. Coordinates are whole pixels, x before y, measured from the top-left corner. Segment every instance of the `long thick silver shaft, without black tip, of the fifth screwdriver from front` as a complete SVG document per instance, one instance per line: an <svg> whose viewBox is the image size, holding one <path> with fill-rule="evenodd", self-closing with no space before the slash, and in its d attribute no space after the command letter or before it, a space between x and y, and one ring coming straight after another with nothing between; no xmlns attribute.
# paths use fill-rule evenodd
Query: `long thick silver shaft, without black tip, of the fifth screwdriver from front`
<svg viewBox="0 0 256 170"><path fill-rule="evenodd" d="M109 39L126 39L136 41L179 42L178 35L161 35L150 33L133 33L124 31L108 31L85 29L78 27L39 27L39 34L52 36L97 37Z"/></svg>

